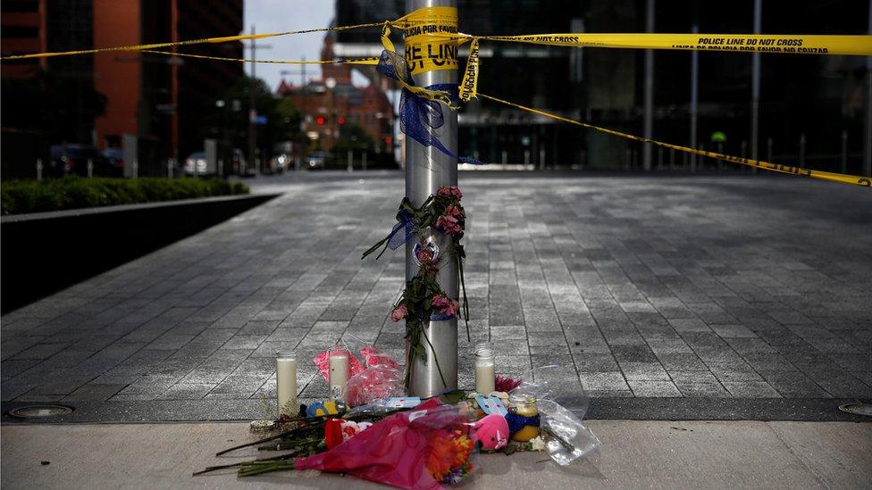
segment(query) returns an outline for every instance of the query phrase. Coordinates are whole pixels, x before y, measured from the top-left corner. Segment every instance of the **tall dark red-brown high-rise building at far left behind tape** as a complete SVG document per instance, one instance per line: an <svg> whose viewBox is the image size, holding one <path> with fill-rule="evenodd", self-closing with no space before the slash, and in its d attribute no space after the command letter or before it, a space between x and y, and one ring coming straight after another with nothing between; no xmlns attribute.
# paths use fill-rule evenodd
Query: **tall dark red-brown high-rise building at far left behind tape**
<svg viewBox="0 0 872 490"><path fill-rule="evenodd" d="M243 0L4 0L0 12L3 54L232 36L243 30ZM180 52L241 58L243 46L205 44ZM102 116L76 121L80 136L69 143L102 149L133 135L158 159L201 150L205 109L214 108L244 74L239 63L110 52L4 62L2 76L27 79L39 70L72 77L107 98Z"/></svg>

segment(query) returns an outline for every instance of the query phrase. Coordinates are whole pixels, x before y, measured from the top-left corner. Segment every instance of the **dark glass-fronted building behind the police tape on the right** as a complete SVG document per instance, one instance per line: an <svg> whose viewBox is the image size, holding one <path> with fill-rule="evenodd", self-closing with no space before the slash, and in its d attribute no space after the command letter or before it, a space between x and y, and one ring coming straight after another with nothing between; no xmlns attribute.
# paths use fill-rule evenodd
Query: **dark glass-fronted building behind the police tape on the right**
<svg viewBox="0 0 872 490"><path fill-rule="evenodd" d="M480 35L644 32L645 0L458 0L459 29ZM650 4L654 4L650 2ZM404 0L337 0L336 24L395 19ZM789 6L789 8L784 8ZM748 33L754 2L659 1L654 32ZM764 0L766 34L866 34L869 4L822 0L785 5ZM398 37L397 37L398 38ZM341 31L340 58L377 55L378 29ZM461 49L461 54L465 50ZM644 131L645 52L483 43L479 90L518 104L636 135ZM697 146L750 156L752 54L699 53ZM691 144L692 53L654 51L651 135ZM462 60L462 63L465 60ZM759 158L818 170L861 171L867 60L861 56L761 55ZM642 168L640 144L567 127L490 102L460 115L460 153L485 162L548 167ZM708 164L707 162L699 162ZM710 162L709 162L710 163ZM653 150L651 167L687 168L683 154Z"/></svg>

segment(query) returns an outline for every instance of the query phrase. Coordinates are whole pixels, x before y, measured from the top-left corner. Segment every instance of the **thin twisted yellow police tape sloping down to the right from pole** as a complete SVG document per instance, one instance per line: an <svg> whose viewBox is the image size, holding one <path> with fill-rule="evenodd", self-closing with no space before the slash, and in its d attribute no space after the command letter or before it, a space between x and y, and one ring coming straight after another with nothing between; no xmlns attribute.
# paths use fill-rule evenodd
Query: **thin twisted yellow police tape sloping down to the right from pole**
<svg viewBox="0 0 872 490"><path fill-rule="evenodd" d="M586 128L586 129L594 129L594 130L599 131L601 133L606 133L606 134L613 135L616 137L623 137L625 139L638 141L640 143L650 143L651 145L658 145L658 146L661 146L664 148L669 148L671 150L677 150L679 152L683 152L686 154L696 154L696 155L700 155L700 156L708 156L709 158L723 160L724 162L739 163L741 165L746 165L749 167L753 167L755 169L772 170L772 171L787 173L787 174L791 174L791 175L795 175L795 176L799 176L799 177L810 177L811 179L822 179L822 180L829 180L831 182L842 182L843 184L853 184L855 186L872 187L872 178L870 178L870 177L860 177L860 176L856 176L856 175L844 175L841 173L826 172L826 171L822 171L822 170L801 169L799 167L791 167L789 165L780 165L777 163L762 162L762 161L758 161L758 160L751 160L749 158L741 158L738 156L730 156L730 155L725 155L725 154L716 154L713 152L706 152L703 150L696 150L693 148L689 148L687 146L670 145L668 143L663 143L661 141L657 141L657 140L650 139L647 137L637 137L637 136L634 136L631 134L623 133L621 131L616 131L614 129L601 128L599 126L594 126L594 125L588 124L586 122L567 119L565 117L561 117L561 116L558 116L556 114L552 114L550 112L540 111L539 109L533 109L532 107L526 107L526 106L521 105L521 104L515 104L512 102L508 102L508 101L499 99L497 97L486 96L482 93L479 93L478 96L485 98L485 99L492 100L494 102L499 102L500 104L506 104L506 105L509 105L511 107L521 109L522 111L532 112L534 114L539 114L539 115L545 116L549 119L560 120L563 122L567 122L569 124L581 126L583 128Z"/></svg>

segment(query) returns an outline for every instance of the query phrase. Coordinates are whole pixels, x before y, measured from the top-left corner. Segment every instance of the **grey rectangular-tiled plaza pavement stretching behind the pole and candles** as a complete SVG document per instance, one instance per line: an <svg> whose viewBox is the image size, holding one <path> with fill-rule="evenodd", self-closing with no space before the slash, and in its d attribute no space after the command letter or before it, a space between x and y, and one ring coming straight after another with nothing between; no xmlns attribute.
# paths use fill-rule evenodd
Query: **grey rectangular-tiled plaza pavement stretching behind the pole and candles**
<svg viewBox="0 0 872 490"><path fill-rule="evenodd" d="M287 194L5 315L3 400L250 407L274 395L279 349L311 356L350 333L399 358L386 317L401 253L359 257L390 229L402 176L364 175L255 182ZM594 397L872 397L868 189L468 173L461 186L474 336L499 340L500 371L574 367ZM308 364L299 386L326 393Z"/></svg>

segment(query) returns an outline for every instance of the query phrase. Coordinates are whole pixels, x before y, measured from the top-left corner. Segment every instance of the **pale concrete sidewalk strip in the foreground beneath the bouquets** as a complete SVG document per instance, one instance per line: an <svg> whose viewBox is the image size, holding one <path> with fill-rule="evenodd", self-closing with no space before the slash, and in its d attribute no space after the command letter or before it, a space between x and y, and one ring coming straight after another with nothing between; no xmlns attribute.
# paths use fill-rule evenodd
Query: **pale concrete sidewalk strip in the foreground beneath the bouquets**
<svg viewBox="0 0 872 490"><path fill-rule="evenodd" d="M591 420L599 454L559 469L544 453L486 455L474 488L868 488L872 424ZM2 486L15 488L380 488L351 477L232 472L214 453L253 437L244 423L4 426ZM14 451L10 449L14 448ZM251 459L256 450L241 451ZM264 453L259 455L264 457ZM546 460L546 461L542 461ZM47 464L44 462L47 461Z"/></svg>

